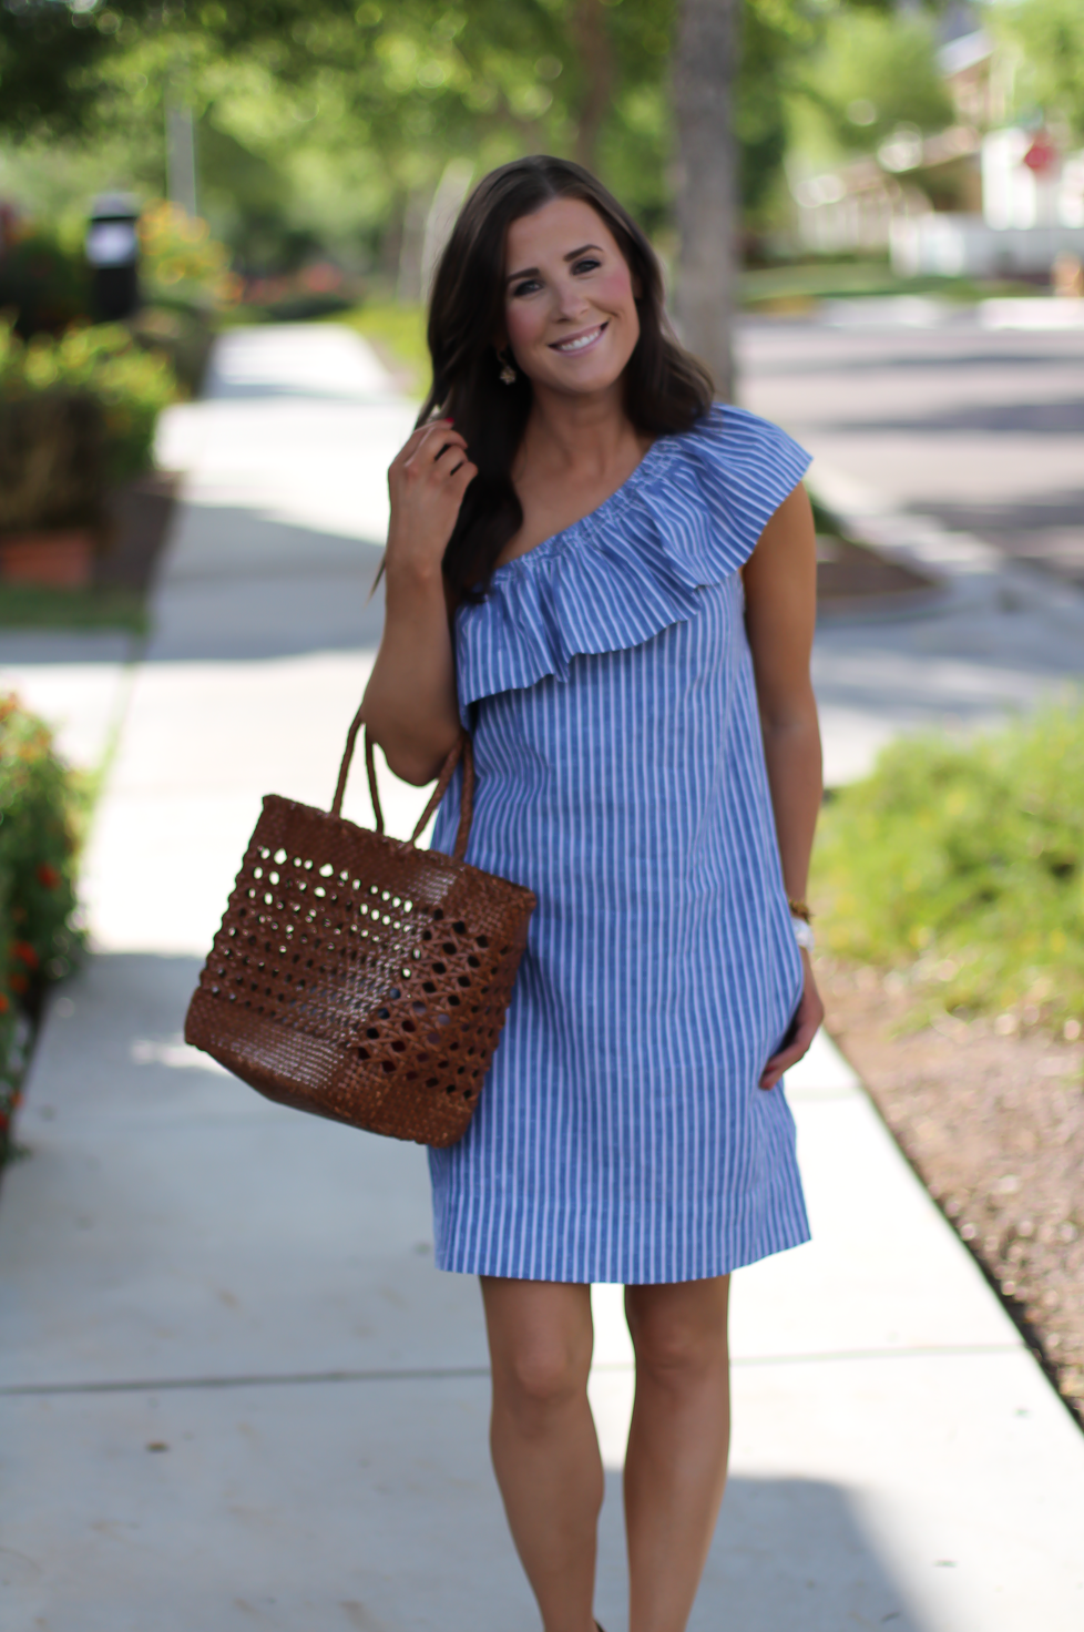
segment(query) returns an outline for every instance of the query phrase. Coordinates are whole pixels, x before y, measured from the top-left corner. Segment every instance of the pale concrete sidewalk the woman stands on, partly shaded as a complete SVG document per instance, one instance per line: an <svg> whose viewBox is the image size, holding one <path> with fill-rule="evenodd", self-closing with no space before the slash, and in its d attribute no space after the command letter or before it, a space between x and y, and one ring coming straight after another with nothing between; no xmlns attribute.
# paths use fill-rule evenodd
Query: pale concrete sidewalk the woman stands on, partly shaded
<svg viewBox="0 0 1084 1632"><path fill-rule="evenodd" d="M193 478L88 862L100 951L52 1005L0 1204L5 1627L537 1624L424 1154L276 1108L180 1038L260 796L330 801L408 424L328 328L230 336L170 429ZM18 656L64 715L54 666ZM420 800L392 793L397 831ZM735 1281L733 1479L694 1627L1076 1632L1084 1439L829 1043L790 1095L816 1239ZM632 1369L619 1289L594 1301L615 1632Z"/></svg>

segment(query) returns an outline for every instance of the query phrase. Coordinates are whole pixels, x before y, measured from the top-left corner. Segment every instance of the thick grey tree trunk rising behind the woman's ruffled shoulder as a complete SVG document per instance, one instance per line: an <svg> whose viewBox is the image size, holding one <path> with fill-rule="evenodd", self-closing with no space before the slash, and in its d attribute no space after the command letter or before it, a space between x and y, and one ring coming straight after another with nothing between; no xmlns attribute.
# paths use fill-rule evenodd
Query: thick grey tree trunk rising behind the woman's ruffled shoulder
<svg viewBox="0 0 1084 1632"><path fill-rule="evenodd" d="M681 338L733 400L736 144L731 129L741 0L681 0L674 62L678 116L678 323Z"/></svg>

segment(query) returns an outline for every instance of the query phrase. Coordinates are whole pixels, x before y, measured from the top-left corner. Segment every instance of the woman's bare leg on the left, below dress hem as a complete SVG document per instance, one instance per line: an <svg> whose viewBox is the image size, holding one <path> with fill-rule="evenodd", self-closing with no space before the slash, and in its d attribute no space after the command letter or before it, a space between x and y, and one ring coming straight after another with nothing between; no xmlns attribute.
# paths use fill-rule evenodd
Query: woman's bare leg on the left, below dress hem
<svg viewBox="0 0 1084 1632"><path fill-rule="evenodd" d="M591 1288L482 1278L490 1444L545 1632L593 1632L602 1459L588 1405Z"/></svg>

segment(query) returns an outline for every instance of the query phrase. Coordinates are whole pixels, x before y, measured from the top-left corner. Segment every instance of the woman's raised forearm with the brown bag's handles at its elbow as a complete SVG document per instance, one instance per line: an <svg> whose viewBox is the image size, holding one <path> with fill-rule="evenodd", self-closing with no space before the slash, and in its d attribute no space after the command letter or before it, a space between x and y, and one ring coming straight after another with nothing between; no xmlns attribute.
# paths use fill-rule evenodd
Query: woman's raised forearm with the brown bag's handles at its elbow
<svg viewBox="0 0 1084 1632"><path fill-rule="evenodd" d="M369 734L405 782L431 782L459 734L452 636L439 570L392 570L364 695Z"/></svg>

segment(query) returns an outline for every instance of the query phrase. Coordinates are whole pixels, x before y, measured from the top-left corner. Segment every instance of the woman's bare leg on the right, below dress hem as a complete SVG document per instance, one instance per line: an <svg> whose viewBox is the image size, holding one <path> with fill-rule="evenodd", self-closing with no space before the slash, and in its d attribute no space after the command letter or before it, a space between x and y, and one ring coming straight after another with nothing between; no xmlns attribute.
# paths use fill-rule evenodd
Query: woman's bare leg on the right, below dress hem
<svg viewBox="0 0 1084 1632"><path fill-rule="evenodd" d="M625 1456L630 1632L684 1632L726 1483L730 1278L629 1286L637 1402Z"/></svg>

